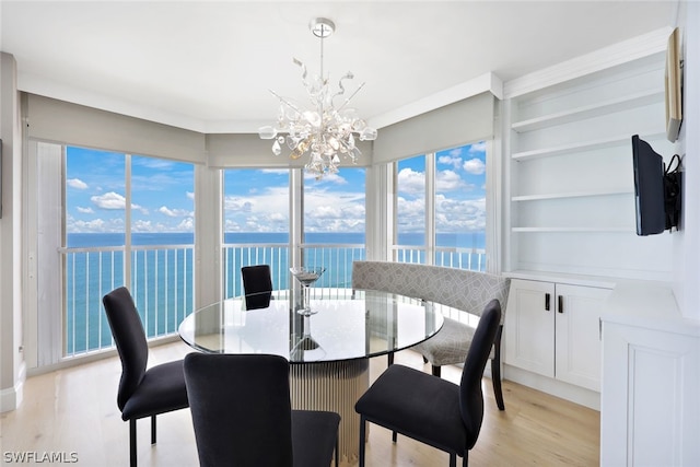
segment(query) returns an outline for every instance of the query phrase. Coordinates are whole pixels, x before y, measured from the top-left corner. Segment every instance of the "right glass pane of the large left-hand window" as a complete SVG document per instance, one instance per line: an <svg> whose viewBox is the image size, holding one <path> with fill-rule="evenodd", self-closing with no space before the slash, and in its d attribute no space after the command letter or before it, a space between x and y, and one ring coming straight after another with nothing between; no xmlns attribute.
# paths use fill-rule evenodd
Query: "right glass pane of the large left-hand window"
<svg viewBox="0 0 700 467"><path fill-rule="evenodd" d="M192 311L194 165L128 155L131 293L149 337L177 331Z"/></svg>

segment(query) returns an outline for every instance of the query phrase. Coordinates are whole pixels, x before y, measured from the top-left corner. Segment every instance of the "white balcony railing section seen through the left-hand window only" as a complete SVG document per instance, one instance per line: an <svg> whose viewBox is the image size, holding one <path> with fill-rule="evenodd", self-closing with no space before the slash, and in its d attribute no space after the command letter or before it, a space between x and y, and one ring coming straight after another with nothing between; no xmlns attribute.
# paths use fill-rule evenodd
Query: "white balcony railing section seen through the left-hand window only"
<svg viewBox="0 0 700 467"><path fill-rule="evenodd" d="M125 247L61 248L63 355L110 349L102 297L125 283ZM191 245L132 246L130 291L148 338L177 331L194 310Z"/></svg>

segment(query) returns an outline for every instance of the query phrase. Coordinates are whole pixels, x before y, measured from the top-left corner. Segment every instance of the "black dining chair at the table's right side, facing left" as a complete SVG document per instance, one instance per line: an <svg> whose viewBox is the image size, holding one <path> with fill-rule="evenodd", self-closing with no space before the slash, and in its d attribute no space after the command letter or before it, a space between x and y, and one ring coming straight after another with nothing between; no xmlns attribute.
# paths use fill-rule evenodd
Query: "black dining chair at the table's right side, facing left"
<svg viewBox="0 0 700 467"><path fill-rule="evenodd" d="M360 467L364 466L365 425L372 422L405 434L456 457L467 466L483 421L481 378L501 320L501 305L486 306L464 363L459 385L428 373L395 364L389 366L360 397Z"/></svg>

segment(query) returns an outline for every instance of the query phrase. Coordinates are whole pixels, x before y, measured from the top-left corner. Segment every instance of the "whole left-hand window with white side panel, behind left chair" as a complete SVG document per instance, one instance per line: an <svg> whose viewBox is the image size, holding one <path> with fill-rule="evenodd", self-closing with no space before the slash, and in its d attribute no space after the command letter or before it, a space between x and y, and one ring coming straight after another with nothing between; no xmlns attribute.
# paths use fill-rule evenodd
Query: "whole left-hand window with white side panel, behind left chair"
<svg viewBox="0 0 700 467"><path fill-rule="evenodd" d="M37 363L110 348L102 297L125 284L147 337L175 332L194 304L194 165L36 145Z"/></svg>

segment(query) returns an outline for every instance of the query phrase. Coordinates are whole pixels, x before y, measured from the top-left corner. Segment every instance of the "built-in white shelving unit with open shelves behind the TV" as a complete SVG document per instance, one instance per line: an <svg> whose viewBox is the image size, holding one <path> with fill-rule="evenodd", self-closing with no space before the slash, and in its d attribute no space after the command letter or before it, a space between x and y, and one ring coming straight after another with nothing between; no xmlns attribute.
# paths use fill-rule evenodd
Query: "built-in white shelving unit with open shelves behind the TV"
<svg viewBox="0 0 700 467"><path fill-rule="evenodd" d="M509 271L663 280L670 235L635 234L632 135L666 162L657 52L504 102Z"/></svg>

